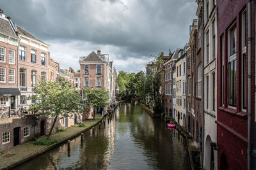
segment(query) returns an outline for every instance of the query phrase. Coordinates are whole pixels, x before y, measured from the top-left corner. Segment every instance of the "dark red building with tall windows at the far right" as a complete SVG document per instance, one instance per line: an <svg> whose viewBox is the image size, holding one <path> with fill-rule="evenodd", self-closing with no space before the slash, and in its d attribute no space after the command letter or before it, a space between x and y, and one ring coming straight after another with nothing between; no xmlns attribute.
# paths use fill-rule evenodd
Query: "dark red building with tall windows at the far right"
<svg viewBox="0 0 256 170"><path fill-rule="evenodd" d="M248 103L255 111L255 74L248 85L247 1L217 1L218 169L248 169ZM255 1L252 1L252 73L255 73ZM248 89L252 99L248 101ZM253 124L252 124L253 125ZM250 129L250 128L249 128ZM252 128L251 128L252 129ZM253 134L253 131L252 133Z"/></svg>

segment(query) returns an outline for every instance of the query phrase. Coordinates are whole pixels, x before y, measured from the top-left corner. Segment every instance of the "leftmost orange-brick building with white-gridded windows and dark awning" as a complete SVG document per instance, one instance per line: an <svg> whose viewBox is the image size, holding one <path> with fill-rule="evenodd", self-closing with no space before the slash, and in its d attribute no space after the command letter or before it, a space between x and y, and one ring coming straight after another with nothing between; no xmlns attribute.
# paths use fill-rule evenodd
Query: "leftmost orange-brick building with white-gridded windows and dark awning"
<svg viewBox="0 0 256 170"><path fill-rule="evenodd" d="M0 11L0 113L17 108L20 91L17 87L18 45L15 28L10 17Z"/></svg>

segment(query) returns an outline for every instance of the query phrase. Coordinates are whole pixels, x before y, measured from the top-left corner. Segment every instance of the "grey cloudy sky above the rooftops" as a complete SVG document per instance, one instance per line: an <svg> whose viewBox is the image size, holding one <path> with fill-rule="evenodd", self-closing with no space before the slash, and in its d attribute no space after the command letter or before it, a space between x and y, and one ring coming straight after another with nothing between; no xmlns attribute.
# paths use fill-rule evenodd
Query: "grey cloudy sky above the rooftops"
<svg viewBox="0 0 256 170"><path fill-rule="evenodd" d="M51 45L61 67L109 53L117 71L138 72L161 51L182 48L195 18L195 0L1 0L13 22Z"/></svg>

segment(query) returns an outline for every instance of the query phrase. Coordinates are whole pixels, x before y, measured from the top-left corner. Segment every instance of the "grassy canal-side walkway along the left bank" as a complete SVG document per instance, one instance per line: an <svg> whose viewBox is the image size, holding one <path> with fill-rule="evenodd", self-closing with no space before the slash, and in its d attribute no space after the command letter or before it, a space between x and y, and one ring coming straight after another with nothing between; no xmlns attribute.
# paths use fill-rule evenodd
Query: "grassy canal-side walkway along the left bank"
<svg viewBox="0 0 256 170"><path fill-rule="evenodd" d="M52 134L51 139L56 139L58 142L50 146L34 145L35 141L29 141L28 143L6 150L2 155L0 155L0 169L15 167L29 159L32 159L33 157L36 157L37 155L40 155L41 153L46 152L47 150L50 150L51 148L54 148L55 146L61 145L68 139L72 139L81 134L81 132L91 129L94 125L101 122L102 118L103 117L96 116L95 120L86 120L84 123L85 127L78 127L78 125L74 125L65 129L63 132Z"/></svg>

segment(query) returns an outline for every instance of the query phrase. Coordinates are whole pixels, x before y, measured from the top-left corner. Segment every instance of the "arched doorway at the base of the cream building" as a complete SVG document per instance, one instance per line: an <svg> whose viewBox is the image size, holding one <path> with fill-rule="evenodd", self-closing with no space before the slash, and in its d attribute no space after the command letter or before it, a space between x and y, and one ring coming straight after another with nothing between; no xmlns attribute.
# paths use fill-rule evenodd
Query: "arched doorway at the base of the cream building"
<svg viewBox="0 0 256 170"><path fill-rule="evenodd" d="M214 170L214 151L211 147L211 137L208 135L205 139L205 169Z"/></svg>

